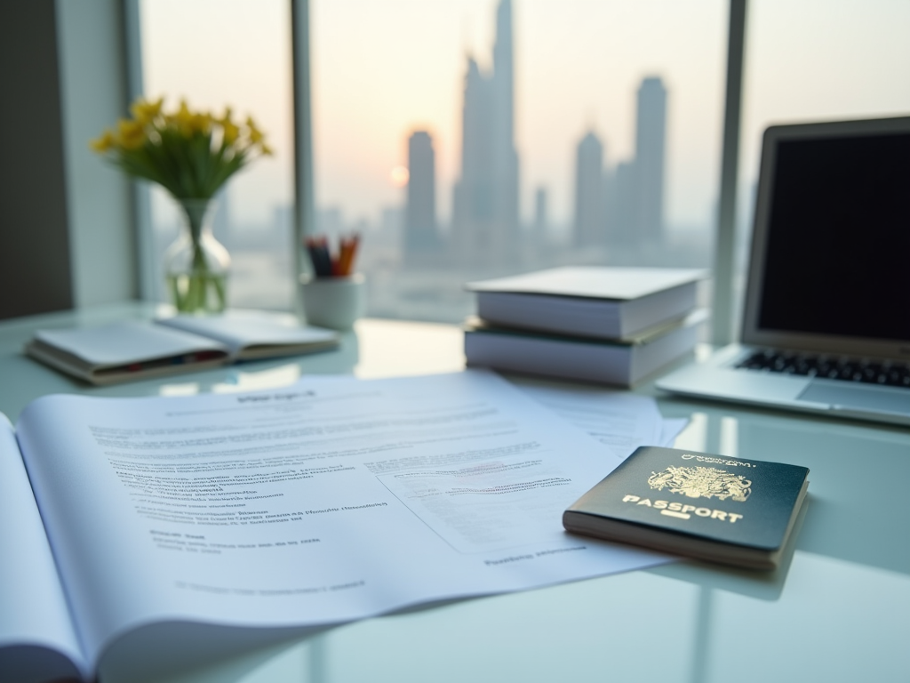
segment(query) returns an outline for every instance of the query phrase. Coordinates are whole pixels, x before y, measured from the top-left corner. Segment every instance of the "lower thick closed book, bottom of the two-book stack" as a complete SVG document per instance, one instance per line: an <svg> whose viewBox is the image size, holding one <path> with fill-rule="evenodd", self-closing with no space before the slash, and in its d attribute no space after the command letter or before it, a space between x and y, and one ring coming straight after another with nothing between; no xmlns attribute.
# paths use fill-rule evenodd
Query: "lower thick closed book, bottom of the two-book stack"
<svg viewBox="0 0 910 683"><path fill-rule="evenodd" d="M474 320L465 328L464 352L472 366L627 387L692 352L705 320L707 311L693 311L682 321L622 341L516 330Z"/></svg>

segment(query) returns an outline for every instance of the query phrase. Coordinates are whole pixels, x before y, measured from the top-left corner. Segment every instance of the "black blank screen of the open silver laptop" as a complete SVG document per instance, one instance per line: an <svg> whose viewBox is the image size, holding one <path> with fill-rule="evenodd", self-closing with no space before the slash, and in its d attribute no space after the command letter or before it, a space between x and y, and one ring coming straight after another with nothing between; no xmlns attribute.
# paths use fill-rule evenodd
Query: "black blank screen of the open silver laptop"
<svg viewBox="0 0 910 683"><path fill-rule="evenodd" d="M757 330L910 340L910 129L775 143Z"/></svg>

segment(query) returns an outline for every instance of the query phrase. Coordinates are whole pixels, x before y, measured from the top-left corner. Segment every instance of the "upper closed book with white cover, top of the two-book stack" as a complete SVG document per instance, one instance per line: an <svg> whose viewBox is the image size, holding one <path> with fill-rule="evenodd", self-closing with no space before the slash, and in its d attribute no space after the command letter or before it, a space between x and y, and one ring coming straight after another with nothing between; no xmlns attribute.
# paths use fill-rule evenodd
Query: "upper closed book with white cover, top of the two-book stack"
<svg viewBox="0 0 910 683"><path fill-rule="evenodd" d="M484 321L599 339L625 339L680 320L704 270L572 266L470 282Z"/></svg>

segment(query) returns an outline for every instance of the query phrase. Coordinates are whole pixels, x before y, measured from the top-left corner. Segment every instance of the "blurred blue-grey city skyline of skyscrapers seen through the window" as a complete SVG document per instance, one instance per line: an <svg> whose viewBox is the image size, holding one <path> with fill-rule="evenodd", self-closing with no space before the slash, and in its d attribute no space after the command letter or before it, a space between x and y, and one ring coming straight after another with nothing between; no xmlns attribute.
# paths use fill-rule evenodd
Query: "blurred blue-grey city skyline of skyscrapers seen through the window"
<svg viewBox="0 0 910 683"><path fill-rule="evenodd" d="M523 229L519 213L519 158L514 138L514 71L511 0L496 6L492 66L481 70L467 56L461 118L460 175L452 187L452 214L444 235L436 210L433 138L417 130L408 138L404 200L404 260L426 263L448 250L450 264L508 266L521 260L522 240L551 237L544 195L535 195L536 229ZM635 97L634 154L614 173L601 138L589 130L576 148L571 243L599 249L660 249L664 234L667 89L661 76L645 76ZM614 179L619 176L622 189ZM542 204L541 204L542 201ZM444 222L444 221L443 221ZM524 225L522 225L524 223ZM530 234L526 234L529 233ZM439 262L439 259L436 260Z"/></svg>

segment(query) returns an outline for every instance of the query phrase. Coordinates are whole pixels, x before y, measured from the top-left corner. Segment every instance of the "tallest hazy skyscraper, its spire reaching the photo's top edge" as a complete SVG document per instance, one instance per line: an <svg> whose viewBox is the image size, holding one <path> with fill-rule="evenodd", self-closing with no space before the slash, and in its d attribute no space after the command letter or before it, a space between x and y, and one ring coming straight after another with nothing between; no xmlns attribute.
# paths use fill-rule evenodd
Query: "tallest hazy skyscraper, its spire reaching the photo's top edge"
<svg viewBox="0 0 910 683"><path fill-rule="evenodd" d="M490 74L468 58L462 110L461 174L455 185L452 232L465 263L505 263L517 254L518 153L514 131L511 0L496 10Z"/></svg>

